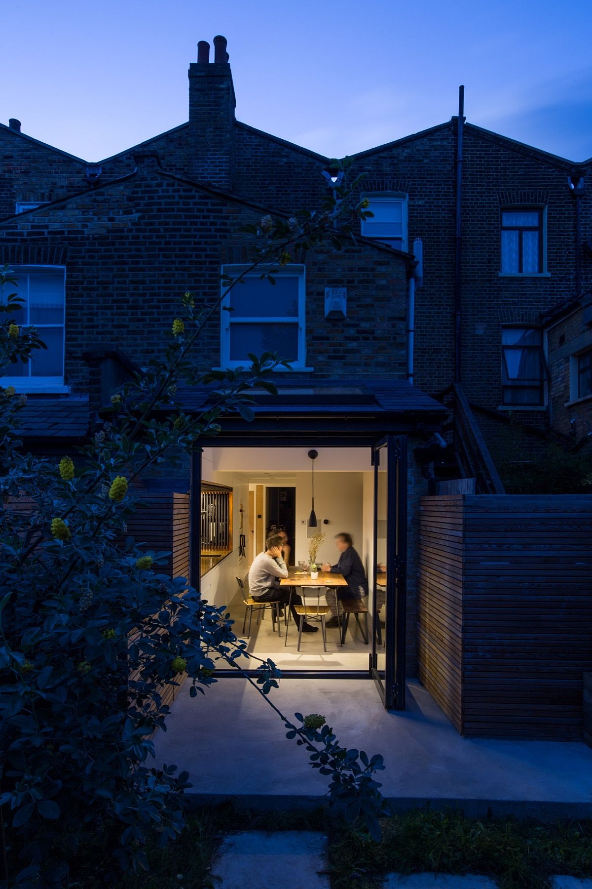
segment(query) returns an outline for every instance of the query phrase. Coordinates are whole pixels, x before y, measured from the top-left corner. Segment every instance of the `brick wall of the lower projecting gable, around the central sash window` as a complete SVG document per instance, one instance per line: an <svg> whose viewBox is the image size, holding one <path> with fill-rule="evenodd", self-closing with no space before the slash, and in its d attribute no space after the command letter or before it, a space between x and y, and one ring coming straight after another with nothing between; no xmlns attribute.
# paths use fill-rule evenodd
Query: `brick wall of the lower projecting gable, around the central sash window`
<svg viewBox="0 0 592 889"><path fill-rule="evenodd" d="M187 290L217 299L220 266L244 257L238 229L260 212L162 174L147 159L138 173L78 196L59 211L39 208L2 230L0 261L36 262L59 250L67 265L67 384L99 392L88 349L119 348L146 364L162 354L178 299ZM306 257L307 364L321 378L404 377L406 260L373 244ZM348 316L324 317L324 288L348 289ZM206 324L195 361L219 363L220 315Z"/></svg>

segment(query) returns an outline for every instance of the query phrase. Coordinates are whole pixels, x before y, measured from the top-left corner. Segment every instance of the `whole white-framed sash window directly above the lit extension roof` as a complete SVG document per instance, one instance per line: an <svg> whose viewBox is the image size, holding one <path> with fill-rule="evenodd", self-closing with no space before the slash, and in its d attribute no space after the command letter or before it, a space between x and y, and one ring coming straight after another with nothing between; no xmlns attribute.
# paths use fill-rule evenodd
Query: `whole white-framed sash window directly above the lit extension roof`
<svg viewBox="0 0 592 889"><path fill-rule="evenodd" d="M224 267L225 275L236 276L240 272L240 266ZM275 284L262 278L260 272L246 275L225 296L221 325L223 367L249 364L249 352L257 356L277 352L296 368L306 364L304 266L284 266L273 277Z"/></svg>

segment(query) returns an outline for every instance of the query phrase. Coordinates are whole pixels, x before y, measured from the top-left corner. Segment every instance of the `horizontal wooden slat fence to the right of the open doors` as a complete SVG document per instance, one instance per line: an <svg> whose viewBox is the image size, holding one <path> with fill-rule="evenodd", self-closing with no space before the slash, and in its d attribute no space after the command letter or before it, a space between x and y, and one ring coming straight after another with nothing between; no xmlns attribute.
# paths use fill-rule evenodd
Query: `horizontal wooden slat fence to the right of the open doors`
<svg viewBox="0 0 592 889"><path fill-rule="evenodd" d="M592 496L420 501L419 677L465 735L579 738Z"/></svg>

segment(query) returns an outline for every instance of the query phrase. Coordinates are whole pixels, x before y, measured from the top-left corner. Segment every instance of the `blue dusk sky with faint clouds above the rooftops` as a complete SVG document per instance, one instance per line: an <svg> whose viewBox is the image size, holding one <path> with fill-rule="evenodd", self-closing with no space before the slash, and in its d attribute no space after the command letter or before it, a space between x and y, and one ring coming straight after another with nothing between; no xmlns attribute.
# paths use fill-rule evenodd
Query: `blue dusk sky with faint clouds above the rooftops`
<svg viewBox="0 0 592 889"><path fill-rule="evenodd" d="M592 3L572 0L12 0L3 112L95 161L187 119L198 40L228 39L237 117L328 156L457 113L592 156Z"/></svg>

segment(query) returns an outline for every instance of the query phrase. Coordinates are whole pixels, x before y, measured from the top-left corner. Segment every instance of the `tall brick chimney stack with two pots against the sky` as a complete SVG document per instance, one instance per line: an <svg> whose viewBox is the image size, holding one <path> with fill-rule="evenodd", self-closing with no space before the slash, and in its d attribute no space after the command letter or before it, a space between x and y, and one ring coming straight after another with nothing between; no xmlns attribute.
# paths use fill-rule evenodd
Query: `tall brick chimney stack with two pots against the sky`
<svg viewBox="0 0 592 889"><path fill-rule="evenodd" d="M213 62L209 43L200 40L197 61L189 66L188 173L193 180L232 189L235 106L226 38L214 37Z"/></svg>

